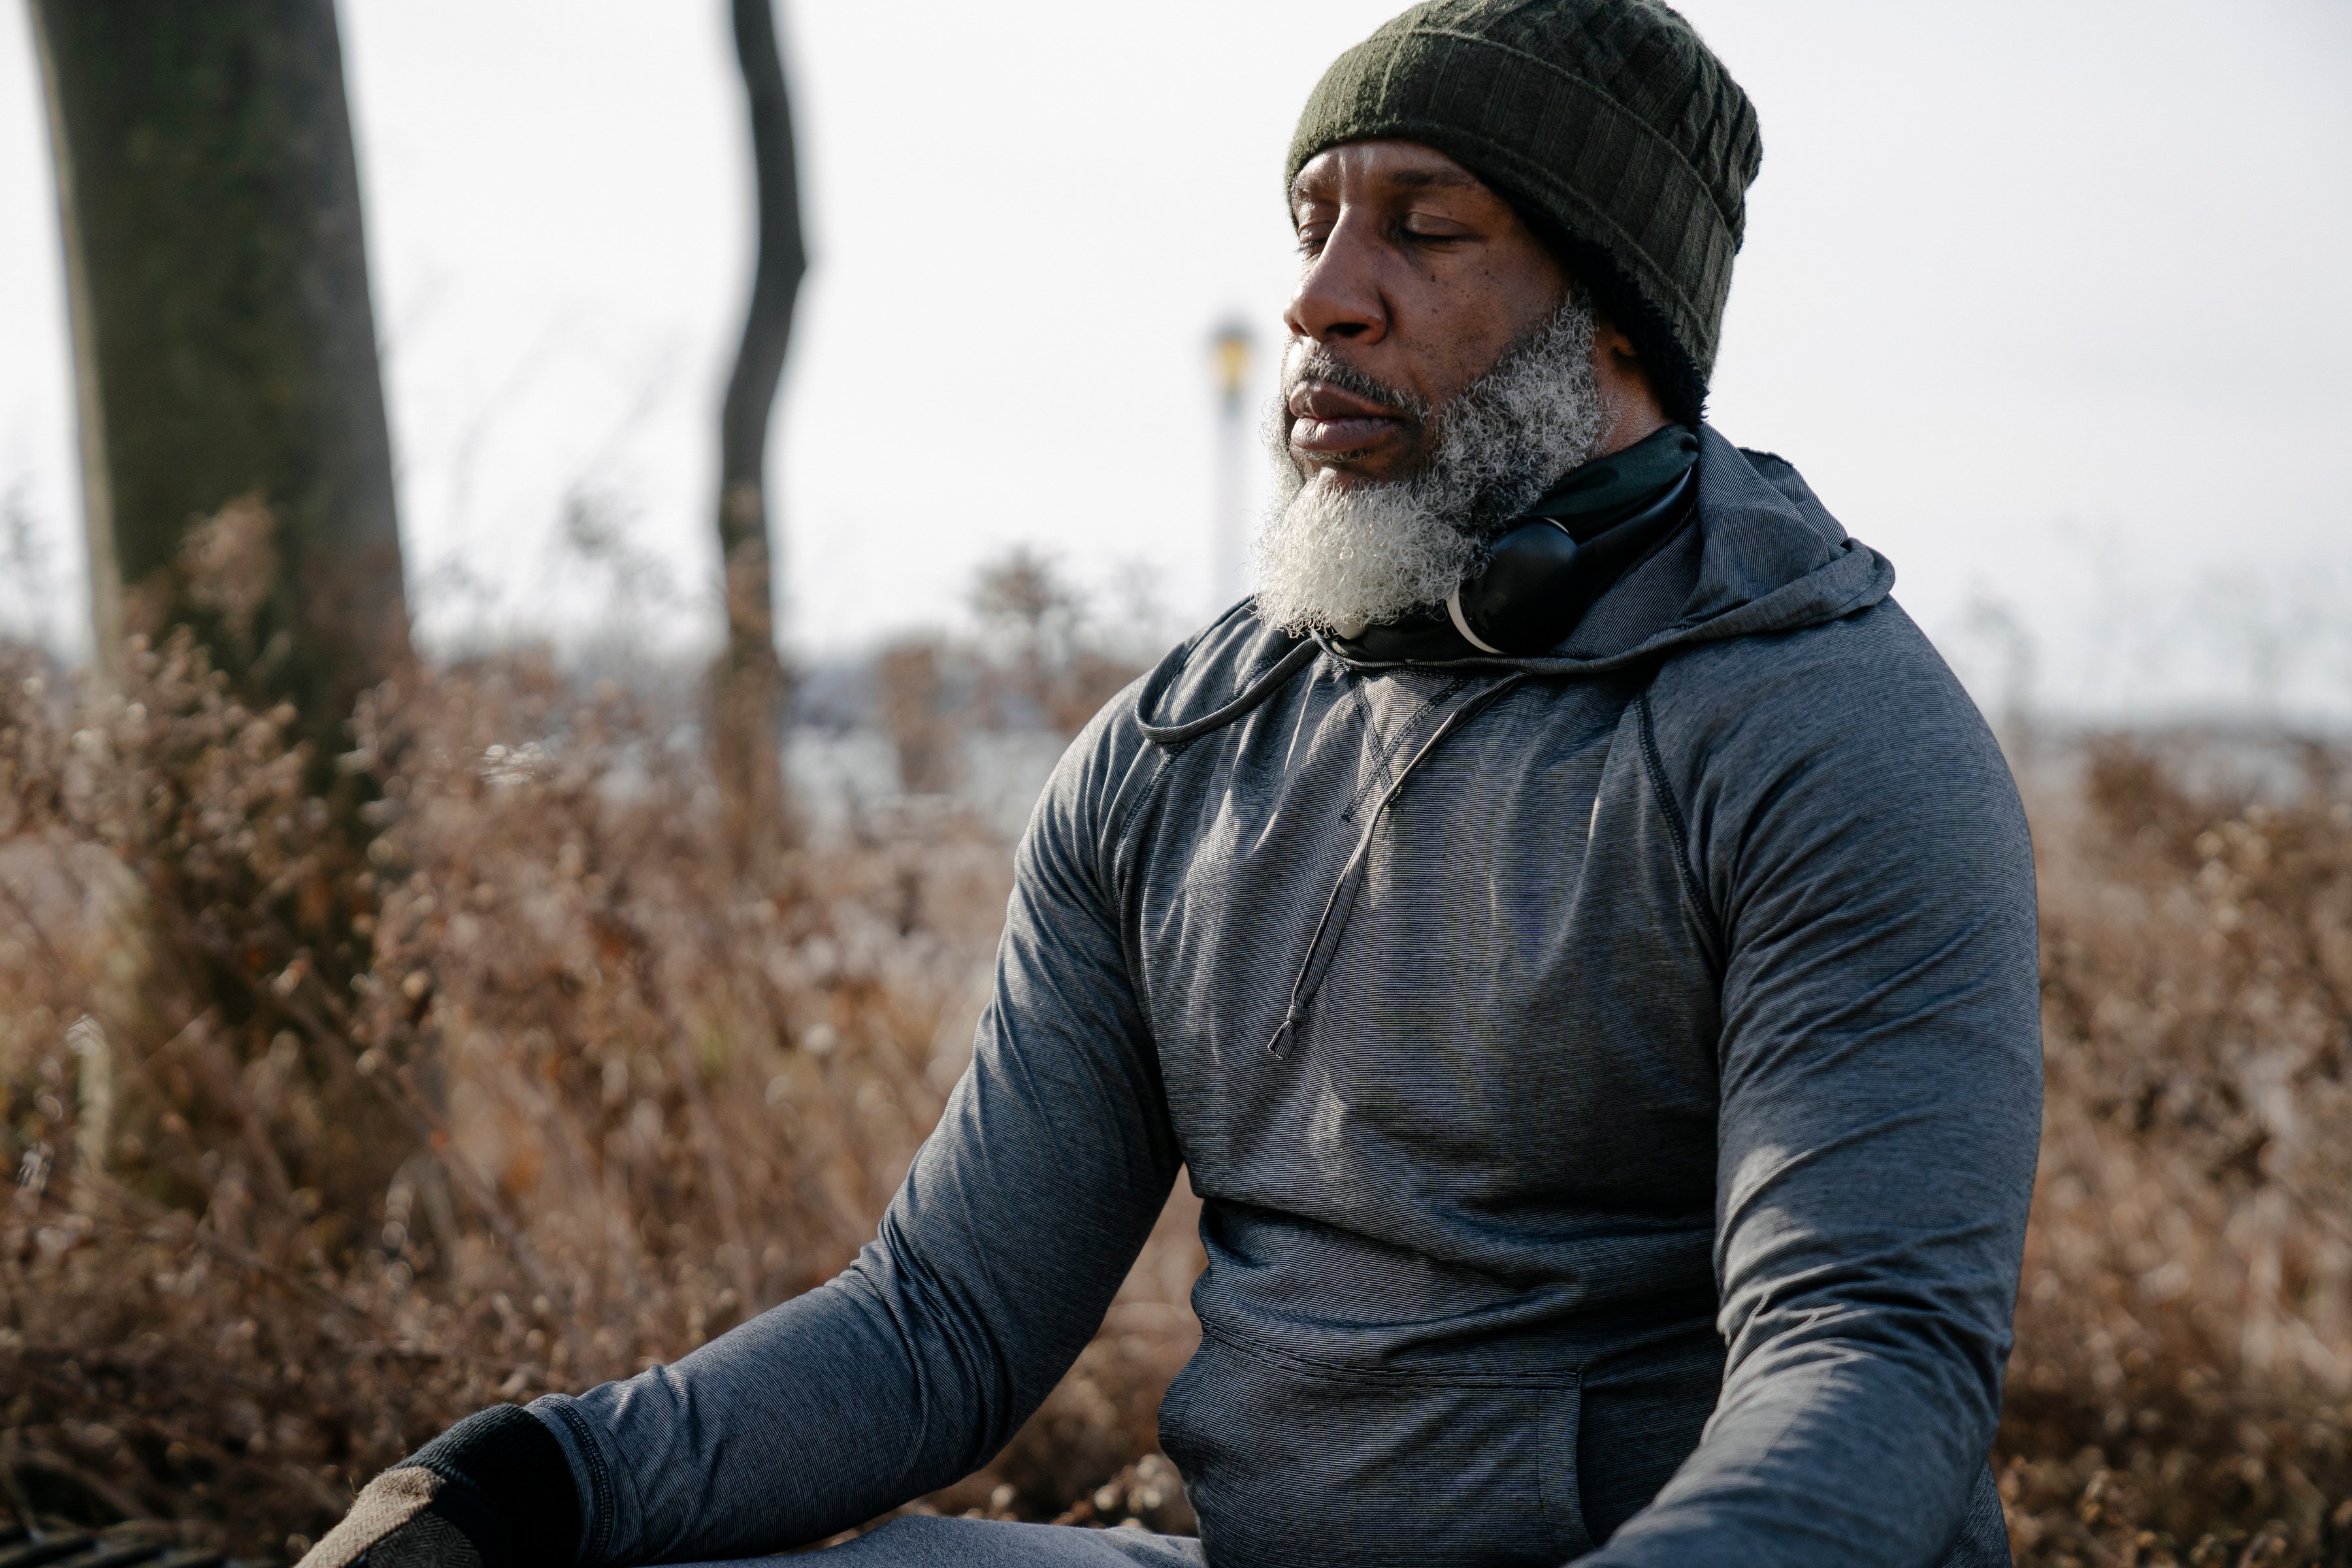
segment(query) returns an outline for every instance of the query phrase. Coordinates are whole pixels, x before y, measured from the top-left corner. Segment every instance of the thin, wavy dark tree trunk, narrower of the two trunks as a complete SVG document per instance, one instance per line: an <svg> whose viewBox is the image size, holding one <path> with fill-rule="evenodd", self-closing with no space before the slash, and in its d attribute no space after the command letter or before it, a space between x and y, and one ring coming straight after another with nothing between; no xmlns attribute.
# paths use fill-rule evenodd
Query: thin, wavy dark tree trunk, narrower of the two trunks
<svg viewBox="0 0 2352 1568"><path fill-rule="evenodd" d="M774 569L767 520L767 423L793 341L793 301L809 270L800 235L800 167L783 89L771 0L731 0L736 61L750 99L760 259L727 407L720 414L720 562L727 574L727 649L713 672L710 762L727 802L727 832L743 853L776 842L783 823L783 663L776 658Z"/></svg>

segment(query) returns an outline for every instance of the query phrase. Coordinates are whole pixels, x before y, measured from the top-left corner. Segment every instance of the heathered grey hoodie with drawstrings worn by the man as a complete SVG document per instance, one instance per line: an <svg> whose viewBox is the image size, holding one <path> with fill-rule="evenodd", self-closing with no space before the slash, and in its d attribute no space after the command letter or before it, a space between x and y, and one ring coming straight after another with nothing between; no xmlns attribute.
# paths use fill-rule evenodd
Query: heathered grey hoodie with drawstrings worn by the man
<svg viewBox="0 0 2352 1568"><path fill-rule="evenodd" d="M1178 1164L1204 1340L1160 1422L1218 1568L2006 1563L2032 851L1891 583L1708 430L1696 524L1557 656L1355 665L1247 609L1169 654L1030 820L877 1241L534 1406L583 1563L985 1462Z"/></svg>

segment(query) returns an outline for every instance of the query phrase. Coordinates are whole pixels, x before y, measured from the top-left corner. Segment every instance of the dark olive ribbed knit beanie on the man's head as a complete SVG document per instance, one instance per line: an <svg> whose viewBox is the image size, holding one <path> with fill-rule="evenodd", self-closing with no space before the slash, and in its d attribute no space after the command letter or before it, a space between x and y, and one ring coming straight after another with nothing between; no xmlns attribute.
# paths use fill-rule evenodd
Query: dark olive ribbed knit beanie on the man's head
<svg viewBox="0 0 2352 1568"><path fill-rule="evenodd" d="M1369 136L1432 146L1512 202L1698 423L1764 139L1689 21L1661 0L1428 0L1315 85L1284 197Z"/></svg>

